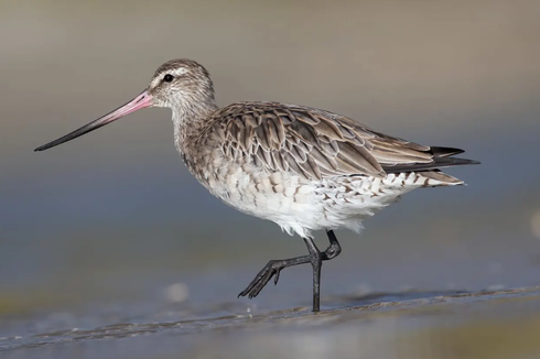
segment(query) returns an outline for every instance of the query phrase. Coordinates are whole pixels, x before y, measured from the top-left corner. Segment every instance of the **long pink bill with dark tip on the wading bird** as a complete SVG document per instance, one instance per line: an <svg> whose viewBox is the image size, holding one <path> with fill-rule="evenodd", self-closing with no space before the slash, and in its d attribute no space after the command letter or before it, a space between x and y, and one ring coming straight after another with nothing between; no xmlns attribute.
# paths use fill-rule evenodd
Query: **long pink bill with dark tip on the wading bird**
<svg viewBox="0 0 540 359"><path fill-rule="evenodd" d="M137 110L143 109L147 107L151 107L152 105L153 105L152 96L149 95L144 90L139 96L133 98L131 101L120 106L116 110L105 115L104 117L98 118L95 121L91 121L88 124L83 126L82 128L79 128L79 129L77 129L71 133L67 133L64 137L61 137L57 140L54 140L52 142L48 142L47 144L41 145L37 149L35 149L34 151L45 151L47 149L54 148L55 145L58 145L61 143L76 139L83 134L86 134L88 132L97 130L100 127L106 126L107 123L116 121L116 120L118 120L118 119L120 119L120 118L122 118L122 117L125 117L131 112L134 112Z"/></svg>

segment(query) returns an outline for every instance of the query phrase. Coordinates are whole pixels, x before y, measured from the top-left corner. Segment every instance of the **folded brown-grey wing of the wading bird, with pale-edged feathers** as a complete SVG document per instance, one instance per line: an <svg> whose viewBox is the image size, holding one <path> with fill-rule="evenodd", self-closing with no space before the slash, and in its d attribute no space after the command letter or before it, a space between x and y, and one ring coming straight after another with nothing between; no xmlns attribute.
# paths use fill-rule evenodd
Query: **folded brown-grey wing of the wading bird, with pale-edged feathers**
<svg viewBox="0 0 540 359"><path fill-rule="evenodd" d="M430 148L372 131L346 117L277 102L239 102L214 115L208 131L231 159L249 156L269 172L305 178L385 176L464 164L463 151Z"/></svg>

